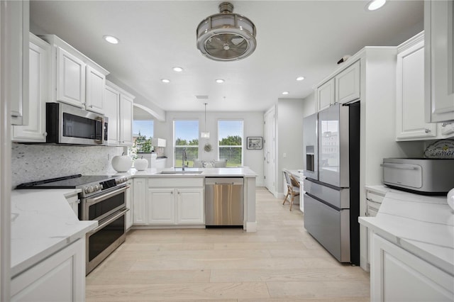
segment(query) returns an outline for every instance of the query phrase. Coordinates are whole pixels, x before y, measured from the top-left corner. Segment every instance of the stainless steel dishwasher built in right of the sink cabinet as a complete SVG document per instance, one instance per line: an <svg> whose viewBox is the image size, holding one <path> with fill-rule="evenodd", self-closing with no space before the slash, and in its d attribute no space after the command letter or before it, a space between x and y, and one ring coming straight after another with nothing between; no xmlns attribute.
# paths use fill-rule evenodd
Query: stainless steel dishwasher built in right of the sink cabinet
<svg viewBox="0 0 454 302"><path fill-rule="evenodd" d="M205 225L243 226L242 177L205 178Z"/></svg>

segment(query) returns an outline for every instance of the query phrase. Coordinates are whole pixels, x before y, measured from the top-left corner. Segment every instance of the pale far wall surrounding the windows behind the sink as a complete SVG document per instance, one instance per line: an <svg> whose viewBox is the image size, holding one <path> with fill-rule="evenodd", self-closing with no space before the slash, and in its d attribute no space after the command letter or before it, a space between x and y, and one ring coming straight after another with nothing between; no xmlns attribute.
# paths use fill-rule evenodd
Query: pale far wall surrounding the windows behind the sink
<svg viewBox="0 0 454 302"><path fill-rule="evenodd" d="M209 106L209 105L208 105ZM173 121L175 119L198 119L199 132L202 130L209 131L210 138L199 138L199 158L201 160L217 160L218 159L218 120L220 119L236 119L243 120L244 139L248 136L263 137L263 112L248 111L248 112L215 112L206 111L206 128L205 128L205 113L204 111L167 111L165 122L154 122L154 133L156 138L165 138L167 147L165 147L165 156L167 156L167 167L173 166ZM213 147L211 152L204 151L204 145L209 142ZM245 140L243 141L245 144ZM243 148L243 165L253 169L258 174L257 186L263 186L263 150L247 150L245 145Z"/></svg>

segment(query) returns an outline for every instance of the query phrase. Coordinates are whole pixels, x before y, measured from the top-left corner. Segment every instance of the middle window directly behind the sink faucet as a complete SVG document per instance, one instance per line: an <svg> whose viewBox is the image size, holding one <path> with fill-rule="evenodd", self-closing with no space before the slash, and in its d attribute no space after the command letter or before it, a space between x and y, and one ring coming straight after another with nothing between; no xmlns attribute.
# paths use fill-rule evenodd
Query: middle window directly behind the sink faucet
<svg viewBox="0 0 454 302"><path fill-rule="evenodd" d="M187 164L192 167L199 158L199 121L173 121L175 142L174 167L182 167L183 150L186 150Z"/></svg>

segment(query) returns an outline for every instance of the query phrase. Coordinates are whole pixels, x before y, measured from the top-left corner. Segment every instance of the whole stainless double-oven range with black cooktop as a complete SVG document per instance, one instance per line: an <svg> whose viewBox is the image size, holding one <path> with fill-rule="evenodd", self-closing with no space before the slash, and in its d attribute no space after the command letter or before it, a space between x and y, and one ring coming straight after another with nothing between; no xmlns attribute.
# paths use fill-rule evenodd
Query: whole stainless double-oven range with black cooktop
<svg viewBox="0 0 454 302"><path fill-rule="evenodd" d="M87 233L89 274L126 240L126 181L124 176L75 174L20 184L16 189L82 189L79 220L98 220L98 227Z"/></svg>

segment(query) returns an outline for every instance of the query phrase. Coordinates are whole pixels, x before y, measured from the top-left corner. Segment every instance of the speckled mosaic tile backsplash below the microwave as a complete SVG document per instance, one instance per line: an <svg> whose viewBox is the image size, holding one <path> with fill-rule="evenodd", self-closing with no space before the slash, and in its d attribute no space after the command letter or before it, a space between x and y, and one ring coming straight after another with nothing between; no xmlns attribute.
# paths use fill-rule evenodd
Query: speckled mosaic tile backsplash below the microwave
<svg viewBox="0 0 454 302"><path fill-rule="evenodd" d="M116 174L111 160L123 147L12 144L11 184L72 174Z"/></svg>

